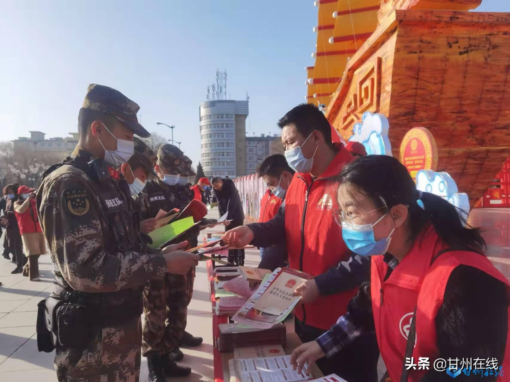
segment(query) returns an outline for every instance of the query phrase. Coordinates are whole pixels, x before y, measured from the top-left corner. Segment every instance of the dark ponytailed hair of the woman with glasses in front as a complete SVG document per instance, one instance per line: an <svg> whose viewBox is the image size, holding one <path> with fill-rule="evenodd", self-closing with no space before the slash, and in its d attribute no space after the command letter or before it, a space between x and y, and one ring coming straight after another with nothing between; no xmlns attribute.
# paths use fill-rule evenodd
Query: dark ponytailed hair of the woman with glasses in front
<svg viewBox="0 0 510 382"><path fill-rule="evenodd" d="M385 207L385 204L389 209L397 204L408 205L412 239L430 222L451 249L480 254L486 249L480 229L467 225L464 211L437 195L420 194L407 169L392 156L360 157L346 165L337 180L348 186L347 192L354 199L361 193L370 198L376 208ZM418 199L424 208L418 205Z"/></svg>

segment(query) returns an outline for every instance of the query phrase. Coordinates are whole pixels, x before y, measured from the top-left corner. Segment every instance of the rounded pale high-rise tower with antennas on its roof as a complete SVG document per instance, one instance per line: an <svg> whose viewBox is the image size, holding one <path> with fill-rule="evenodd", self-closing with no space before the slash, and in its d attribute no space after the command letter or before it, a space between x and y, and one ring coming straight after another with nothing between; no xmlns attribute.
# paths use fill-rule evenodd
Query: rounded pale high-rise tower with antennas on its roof
<svg viewBox="0 0 510 382"><path fill-rule="evenodd" d="M246 175L248 100L200 104L201 158L207 177Z"/></svg>

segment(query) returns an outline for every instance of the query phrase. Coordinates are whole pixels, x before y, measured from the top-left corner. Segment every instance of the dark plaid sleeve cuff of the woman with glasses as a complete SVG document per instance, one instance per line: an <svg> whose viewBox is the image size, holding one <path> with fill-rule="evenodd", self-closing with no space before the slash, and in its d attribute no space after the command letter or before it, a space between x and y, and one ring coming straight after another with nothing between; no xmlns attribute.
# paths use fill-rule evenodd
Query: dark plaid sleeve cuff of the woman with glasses
<svg viewBox="0 0 510 382"><path fill-rule="evenodd" d="M336 324L331 326L331 329L317 338L316 341L326 354L326 357L330 358L361 336L363 334L362 326L361 323L356 323L349 312L347 312L338 319Z"/></svg>

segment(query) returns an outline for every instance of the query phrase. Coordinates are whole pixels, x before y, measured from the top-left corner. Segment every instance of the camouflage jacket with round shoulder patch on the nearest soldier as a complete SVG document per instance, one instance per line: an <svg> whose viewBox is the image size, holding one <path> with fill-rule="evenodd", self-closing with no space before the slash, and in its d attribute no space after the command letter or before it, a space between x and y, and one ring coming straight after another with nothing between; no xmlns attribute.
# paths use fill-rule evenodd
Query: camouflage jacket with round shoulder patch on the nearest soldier
<svg viewBox="0 0 510 382"><path fill-rule="evenodd" d="M79 146L72 155L64 161L72 165L45 173L36 199L55 270L82 292L116 292L165 275L161 254L138 252L127 201L104 161Z"/></svg>

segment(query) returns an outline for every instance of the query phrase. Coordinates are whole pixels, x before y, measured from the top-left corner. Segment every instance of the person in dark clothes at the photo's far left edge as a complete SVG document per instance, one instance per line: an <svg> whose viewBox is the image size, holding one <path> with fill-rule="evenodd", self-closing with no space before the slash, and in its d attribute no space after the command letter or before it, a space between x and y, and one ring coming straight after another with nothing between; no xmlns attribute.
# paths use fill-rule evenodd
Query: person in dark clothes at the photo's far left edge
<svg viewBox="0 0 510 382"><path fill-rule="evenodd" d="M4 238L4 254L12 253L12 260L16 263L16 268L11 274L18 274L23 271L23 266L27 263L27 257L23 254L23 243L19 234L18 221L14 213L14 203L18 200L17 183L8 184L4 187L3 192L6 198L5 215L0 219L6 227ZM7 255L9 256L9 255Z"/></svg>

